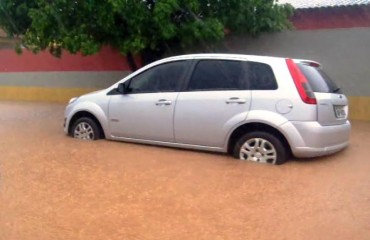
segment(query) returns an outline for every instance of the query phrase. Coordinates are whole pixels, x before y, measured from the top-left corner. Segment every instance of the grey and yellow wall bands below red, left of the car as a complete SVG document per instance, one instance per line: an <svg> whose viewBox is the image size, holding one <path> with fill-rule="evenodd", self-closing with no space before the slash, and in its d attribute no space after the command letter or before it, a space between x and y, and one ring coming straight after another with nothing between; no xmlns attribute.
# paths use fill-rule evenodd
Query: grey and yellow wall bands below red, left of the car
<svg viewBox="0 0 370 240"><path fill-rule="evenodd" d="M52 101L68 99L111 86L129 71L12 72L0 74L0 99Z"/></svg>

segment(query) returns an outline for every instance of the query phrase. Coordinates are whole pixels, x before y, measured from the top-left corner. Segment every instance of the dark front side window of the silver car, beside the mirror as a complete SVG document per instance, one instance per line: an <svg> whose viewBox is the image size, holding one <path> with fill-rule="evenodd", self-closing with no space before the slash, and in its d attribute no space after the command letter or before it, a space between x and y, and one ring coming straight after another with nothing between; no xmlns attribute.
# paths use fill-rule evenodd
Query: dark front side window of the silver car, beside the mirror
<svg viewBox="0 0 370 240"><path fill-rule="evenodd" d="M156 93L179 91L186 70L186 61L164 63L133 77L129 93Z"/></svg>

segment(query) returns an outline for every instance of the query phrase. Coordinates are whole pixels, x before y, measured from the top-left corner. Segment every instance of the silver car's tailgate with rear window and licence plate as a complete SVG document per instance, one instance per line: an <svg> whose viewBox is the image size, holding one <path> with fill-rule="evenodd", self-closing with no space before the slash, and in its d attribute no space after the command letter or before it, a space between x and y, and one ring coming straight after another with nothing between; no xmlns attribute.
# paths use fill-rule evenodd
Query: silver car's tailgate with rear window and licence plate
<svg viewBox="0 0 370 240"><path fill-rule="evenodd" d="M336 83L317 64L300 62L317 100L317 116L321 125L344 124L348 119L348 99Z"/></svg>

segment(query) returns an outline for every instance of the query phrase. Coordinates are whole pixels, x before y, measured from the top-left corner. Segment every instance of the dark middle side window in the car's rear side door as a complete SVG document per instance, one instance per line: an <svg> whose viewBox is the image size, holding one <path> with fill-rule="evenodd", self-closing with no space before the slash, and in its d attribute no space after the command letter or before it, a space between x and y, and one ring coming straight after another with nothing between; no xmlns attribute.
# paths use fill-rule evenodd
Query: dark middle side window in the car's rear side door
<svg viewBox="0 0 370 240"><path fill-rule="evenodd" d="M189 91L245 89L243 62L234 60L201 60L188 84Z"/></svg>

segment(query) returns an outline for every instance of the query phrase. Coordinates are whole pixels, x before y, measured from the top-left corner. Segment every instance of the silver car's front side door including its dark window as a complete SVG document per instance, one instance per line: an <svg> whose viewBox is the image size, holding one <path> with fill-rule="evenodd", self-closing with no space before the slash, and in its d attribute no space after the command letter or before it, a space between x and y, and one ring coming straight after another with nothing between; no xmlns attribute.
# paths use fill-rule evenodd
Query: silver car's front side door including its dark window
<svg viewBox="0 0 370 240"><path fill-rule="evenodd" d="M125 82L126 94L112 95L113 137L173 142L173 114L186 61L154 66Z"/></svg>

